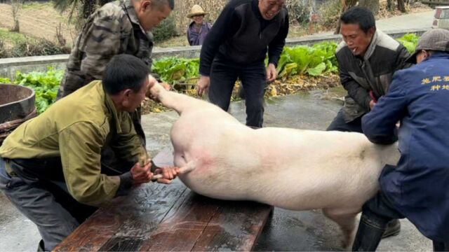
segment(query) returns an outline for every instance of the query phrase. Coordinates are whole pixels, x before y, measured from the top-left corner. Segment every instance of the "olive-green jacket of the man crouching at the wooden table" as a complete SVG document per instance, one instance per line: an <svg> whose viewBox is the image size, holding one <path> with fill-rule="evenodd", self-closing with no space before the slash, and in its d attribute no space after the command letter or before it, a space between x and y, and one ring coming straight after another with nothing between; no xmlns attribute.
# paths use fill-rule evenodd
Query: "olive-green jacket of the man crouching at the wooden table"
<svg viewBox="0 0 449 252"><path fill-rule="evenodd" d="M101 81L95 80L20 125L5 139L0 157L60 156L69 193L95 206L115 197L120 186L119 176L101 174L100 153L105 146L133 162L147 155L129 113L116 111Z"/></svg>

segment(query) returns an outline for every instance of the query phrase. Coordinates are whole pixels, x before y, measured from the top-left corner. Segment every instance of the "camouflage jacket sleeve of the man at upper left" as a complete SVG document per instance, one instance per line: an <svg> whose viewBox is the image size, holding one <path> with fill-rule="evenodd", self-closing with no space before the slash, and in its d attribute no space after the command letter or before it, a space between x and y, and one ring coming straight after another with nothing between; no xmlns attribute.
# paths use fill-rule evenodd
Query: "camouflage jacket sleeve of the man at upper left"
<svg viewBox="0 0 449 252"><path fill-rule="evenodd" d="M81 71L91 80L100 80L107 62L119 54L121 38L130 36L131 27L121 27L128 24L122 20L127 17L116 10L100 9L94 15L92 22L83 28L78 46L84 52Z"/></svg>

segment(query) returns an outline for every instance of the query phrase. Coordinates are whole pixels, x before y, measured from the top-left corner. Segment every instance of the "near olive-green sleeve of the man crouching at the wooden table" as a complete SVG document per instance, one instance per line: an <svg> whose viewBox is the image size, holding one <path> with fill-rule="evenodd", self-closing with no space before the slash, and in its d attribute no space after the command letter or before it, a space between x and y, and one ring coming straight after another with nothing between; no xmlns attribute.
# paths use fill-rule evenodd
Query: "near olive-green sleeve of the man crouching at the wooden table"
<svg viewBox="0 0 449 252"><path fill-rule="evenodd" d="M91 123L70 125L59 134L62 171L75 200L98 206L116 195L119 176L101 174L100 153L105 133Z"/></svg>

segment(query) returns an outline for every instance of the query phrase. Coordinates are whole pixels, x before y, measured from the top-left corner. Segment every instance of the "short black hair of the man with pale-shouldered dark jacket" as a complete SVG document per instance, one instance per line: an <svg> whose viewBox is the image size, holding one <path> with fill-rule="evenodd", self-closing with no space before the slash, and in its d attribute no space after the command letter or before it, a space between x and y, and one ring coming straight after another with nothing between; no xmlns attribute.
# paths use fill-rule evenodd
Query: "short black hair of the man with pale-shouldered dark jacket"
<svg viewBox="0 0 449 252"><path fill-rule="evenodd" d="M371 27L376 27L376 20L369 8L355 6L343 13L340 21L345 24L358 24L367 33Z"/></svg>

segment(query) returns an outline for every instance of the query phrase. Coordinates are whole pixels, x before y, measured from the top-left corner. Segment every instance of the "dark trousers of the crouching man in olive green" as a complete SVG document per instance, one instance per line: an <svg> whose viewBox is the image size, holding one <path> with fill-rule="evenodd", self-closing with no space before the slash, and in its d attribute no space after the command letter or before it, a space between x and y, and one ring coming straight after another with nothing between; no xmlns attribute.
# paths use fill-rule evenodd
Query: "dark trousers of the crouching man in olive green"
<svg viewBox="0 0 449 252"><path fill-rule="evenodd" d="M17 172L33 169L42 171L42 168L50 172L45 175L47 179L28 174L10 175L6 172L6 162ZM115 172L102 167L102 173ZM36 224L46 251L53 250L97 209L77 202L68 193L62 165L55 162L54 158L8 161L0 158L0 189L23 215Z"/></svg>

